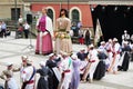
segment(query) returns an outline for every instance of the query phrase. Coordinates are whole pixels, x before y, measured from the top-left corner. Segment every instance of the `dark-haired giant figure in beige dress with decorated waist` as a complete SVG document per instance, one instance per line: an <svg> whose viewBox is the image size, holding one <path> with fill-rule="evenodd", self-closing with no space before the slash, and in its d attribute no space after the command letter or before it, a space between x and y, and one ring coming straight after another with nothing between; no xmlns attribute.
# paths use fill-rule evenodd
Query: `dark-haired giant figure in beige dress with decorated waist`
<svg viewBox="0 0 133 89"><path fill-rule="evenodd" d="M54 51L59 55L60 51L64 51L68 53L72 52L72 41L70 37L70 27L71 21L66 16L66 10L61 9L60 18L57 19L57 27L55 27L55 49Z"/></svg>

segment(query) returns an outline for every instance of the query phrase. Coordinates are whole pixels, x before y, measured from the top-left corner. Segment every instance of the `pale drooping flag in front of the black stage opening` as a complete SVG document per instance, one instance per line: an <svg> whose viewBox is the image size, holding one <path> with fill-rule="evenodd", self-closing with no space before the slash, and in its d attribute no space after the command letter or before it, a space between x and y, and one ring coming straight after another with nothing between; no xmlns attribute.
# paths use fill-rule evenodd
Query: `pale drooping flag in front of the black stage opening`
<svg viewBox="0 0 133 89"><path fill-rule="evenodd" d="M94 34L94 46L98 46L98 42L100 42L100 38L103 36L102 29L100 26L100 21L98 19L96 21L96 29L95 29L95 34Z"/></svg>

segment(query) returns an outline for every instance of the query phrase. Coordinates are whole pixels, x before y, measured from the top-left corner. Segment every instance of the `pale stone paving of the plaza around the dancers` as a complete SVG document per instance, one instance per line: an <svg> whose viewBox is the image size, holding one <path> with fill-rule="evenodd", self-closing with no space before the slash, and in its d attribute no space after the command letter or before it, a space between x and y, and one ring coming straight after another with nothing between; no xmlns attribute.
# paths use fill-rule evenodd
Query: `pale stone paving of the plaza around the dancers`
<svg viewBox="0 0 133 89"><path fill-rule="evenodd" d="M31 41L31 42L30 42ZM33 48L29 48L29 44ZM14 32L10 37L0 38L0 72L6 69L6 65L11 62L14 67L20 67L21 56L28 55L33 65L39 68L39 62L47 60L48 56L34 55L35 39L14 39ZM76 52L85 46L73 44L73 51ZM14 78L20 85L20 73L16 72ZM39 76L37 75L37 80ZM3 85L3 80L0 79L0 83ZM133 89L133 62L130 63L129 71L120 71L117 75L106 73L105 77L94 82L80 83L79 89Z"/></svg>

